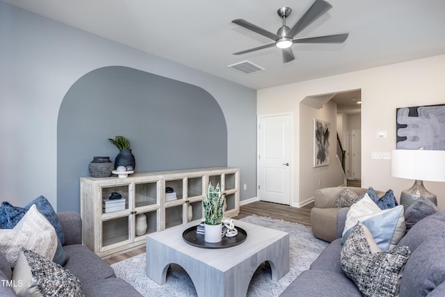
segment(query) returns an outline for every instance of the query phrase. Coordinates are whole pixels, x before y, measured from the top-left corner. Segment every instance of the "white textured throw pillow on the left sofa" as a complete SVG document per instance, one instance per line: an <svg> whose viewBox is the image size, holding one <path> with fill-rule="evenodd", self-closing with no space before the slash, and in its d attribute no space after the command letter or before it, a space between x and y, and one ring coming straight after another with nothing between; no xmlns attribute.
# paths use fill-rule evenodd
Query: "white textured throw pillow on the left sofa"
<svg viewBox="0 0 445 297"><path fill-rule="evenodd" d="M19 252L33 250L47 259L53 259L57 249L54 227L33 205L13 230L0 230L0 250L14 267Z"/></svg>

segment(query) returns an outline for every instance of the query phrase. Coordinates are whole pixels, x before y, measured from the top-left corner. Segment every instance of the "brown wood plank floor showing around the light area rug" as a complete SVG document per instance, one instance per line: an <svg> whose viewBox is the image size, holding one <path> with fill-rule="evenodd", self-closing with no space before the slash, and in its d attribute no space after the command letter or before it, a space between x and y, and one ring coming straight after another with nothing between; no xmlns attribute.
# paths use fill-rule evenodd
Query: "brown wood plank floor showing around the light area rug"
<svg viewBox="0 0 445 297"><path fill-rule="evenodd" d="M304 207L296 208L289 205L277 204L272 202L257 201L242 205L238 216L234 217L239 220L252 214L257 216L267 216L269 218L276 218L278 220L288 220L289 222L299 223L305 226L311 225L311 209L314 207L314 202L305 205ZM124 259L140 255L145 252L145 247L126 252L124 254L116 255L114 257L105 259L108 264L114 264Z"/></svg>

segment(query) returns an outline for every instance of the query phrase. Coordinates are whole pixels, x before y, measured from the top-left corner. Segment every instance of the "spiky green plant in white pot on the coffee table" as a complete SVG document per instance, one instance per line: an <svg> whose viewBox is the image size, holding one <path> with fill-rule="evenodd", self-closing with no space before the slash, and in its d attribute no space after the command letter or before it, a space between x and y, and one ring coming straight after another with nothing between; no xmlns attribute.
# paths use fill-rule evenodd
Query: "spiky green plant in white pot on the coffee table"
<svg viewBox="0 0 445 297"><path fill-rule="evenodd" d="M204 241L215 243L222 239L223 230L223 206L224 197L220 191L220 184L213 188L209 183L209 191L205 193L202 200L202 208L204 209Z"/></svg>

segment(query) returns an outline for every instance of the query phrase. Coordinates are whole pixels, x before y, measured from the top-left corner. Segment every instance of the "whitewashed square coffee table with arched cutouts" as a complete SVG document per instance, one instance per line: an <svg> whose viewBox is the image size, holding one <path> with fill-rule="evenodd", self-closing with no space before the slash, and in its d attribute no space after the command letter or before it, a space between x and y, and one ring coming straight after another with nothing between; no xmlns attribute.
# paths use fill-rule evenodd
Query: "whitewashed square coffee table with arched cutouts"
<svg viewBox="0 0 445 297"><path fill-rule="evenodd" d="M178 264L188 273L197 296L245 296L258 266L269 262L272 279L280 280L289 272L289 234L240 220L235 226L248 236L232 248L197 248L182 239L182 232L198 225L199 220L147 235L149 278L165 284L170 264Z"/></svg>

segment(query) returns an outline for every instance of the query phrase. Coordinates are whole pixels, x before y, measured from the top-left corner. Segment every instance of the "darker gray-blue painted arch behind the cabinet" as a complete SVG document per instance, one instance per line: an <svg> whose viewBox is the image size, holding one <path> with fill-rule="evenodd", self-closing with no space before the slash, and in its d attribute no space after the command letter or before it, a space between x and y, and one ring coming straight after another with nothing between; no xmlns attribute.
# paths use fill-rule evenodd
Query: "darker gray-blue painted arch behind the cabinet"
<svg viewBox="0 0 445 297"><path fill-rule="evenodd" d="M129 138L136 172L227 166L227 126L206 91L130 67L102 67L68 90L57 126L59 211L79 211L79 177L93 156L119 150Z"/></svg>

